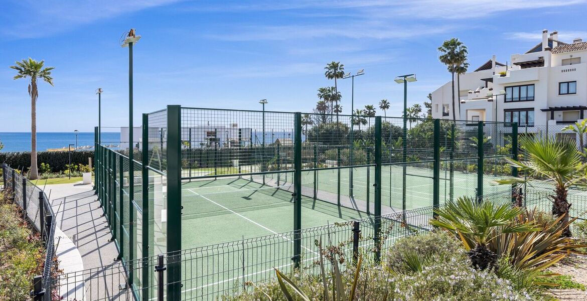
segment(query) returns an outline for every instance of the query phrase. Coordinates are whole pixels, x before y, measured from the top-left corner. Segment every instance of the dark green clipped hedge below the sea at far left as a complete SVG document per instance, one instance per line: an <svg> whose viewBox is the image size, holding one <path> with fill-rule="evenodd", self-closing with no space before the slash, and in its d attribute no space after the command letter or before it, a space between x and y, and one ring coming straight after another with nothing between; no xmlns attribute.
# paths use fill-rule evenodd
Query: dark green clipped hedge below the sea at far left
<svg viewBox="0 0 587 301"><path fill-rule="evenodd" d="M92 158L93 165L93 150L72 151L72 164L87 165L87 158L90 157ZM31 167L31 152L0 153L0 163L6 163L12 168L24 169L26 171ZM39 166L41 163L49 164L53 173L66 170L65 165L69 164L69 151L38 151L37 163Z"/></svg>

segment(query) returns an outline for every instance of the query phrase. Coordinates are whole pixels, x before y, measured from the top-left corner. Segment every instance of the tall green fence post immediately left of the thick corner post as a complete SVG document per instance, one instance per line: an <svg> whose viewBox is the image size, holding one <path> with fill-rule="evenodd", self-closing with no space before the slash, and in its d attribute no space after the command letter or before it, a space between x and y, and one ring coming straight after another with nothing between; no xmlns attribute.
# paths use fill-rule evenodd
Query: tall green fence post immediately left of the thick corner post
<svg viewBox="0 0 587 301"><path fill-rule="evenodd" d="M191 148L191 129L190 129L190 148ZM149 300L149 259L147 259L149 254L149 235L151 232L149 231L149 192L153 190L153 188L149 185L149 169L147 168L149 165L149 114L143 114L143 144L141 147L141 183L143 190L141 191L142 194L142 210L143 210L143 220L141 224L143 225L143 229L141 229L141 245L143 246L143 250L141 251L143 254L143 266L141 266L141 270L143 272L141 281L141 285L143 286L142 290L144 301ZM191 166L191 164L190 164ZM191 168L190 168L191 173Z"/></svg>

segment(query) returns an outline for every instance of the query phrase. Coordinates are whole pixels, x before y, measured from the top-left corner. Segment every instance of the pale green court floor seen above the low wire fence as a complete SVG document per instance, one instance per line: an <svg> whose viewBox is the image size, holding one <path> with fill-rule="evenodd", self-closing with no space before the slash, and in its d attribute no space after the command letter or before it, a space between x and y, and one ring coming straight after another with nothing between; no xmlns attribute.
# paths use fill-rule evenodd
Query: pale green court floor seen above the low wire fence
<svg viewBox="0 0 587 301"><path fill-rule="evenodd" d="M293 231L293 186L276 188L257 181L245 177L183 182L182 248ZM356 209L302 197L302 229L367 217Z"/></svg>

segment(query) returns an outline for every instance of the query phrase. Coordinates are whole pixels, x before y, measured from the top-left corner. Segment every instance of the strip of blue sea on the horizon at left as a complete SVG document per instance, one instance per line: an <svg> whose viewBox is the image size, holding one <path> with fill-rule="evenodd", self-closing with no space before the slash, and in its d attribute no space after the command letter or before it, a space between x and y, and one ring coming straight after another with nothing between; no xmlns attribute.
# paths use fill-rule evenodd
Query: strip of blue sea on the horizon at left
<svg viewBox="0 0 587 301"><path fill-rule="evenodd" d="M4 144L3 153L9 151L31 151L31 133L0 133L0 142ZM102 144L119 144L120 133L102 133ZM37 133L37 151L48 148L68 147L76 144L75 133ZM94 146L93 132L77 133L77 146ZM72 146L73 147L73 146Z"/></svg>

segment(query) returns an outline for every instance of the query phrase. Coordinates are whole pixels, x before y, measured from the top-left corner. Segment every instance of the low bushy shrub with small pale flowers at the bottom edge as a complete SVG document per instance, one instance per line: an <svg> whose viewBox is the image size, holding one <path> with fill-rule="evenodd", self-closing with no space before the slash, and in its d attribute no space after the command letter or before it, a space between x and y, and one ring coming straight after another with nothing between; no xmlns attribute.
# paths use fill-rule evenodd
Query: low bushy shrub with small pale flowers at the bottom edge
<svg viewBox="0 0 587 301"><path fill-rule="evenodd" d="M411 249L410 249L411 248ZM421 266L417 271L402 269L406 258L417 256ZM426 260L429 258L430 260ZM506 279L500 279L490 270L472 268L463 249L450 235L431 233L400 239L389 249L385 265L364 263L356 280L358 300L536 300L524 289L515 289ZM392 268L394 267L394 268ZM349 291L355 283L356 268L349 264L342 273L342 284ZM313 275L291 273L311 300L325 300L322 279ZM332 274L328 276L331 279ZM328 292L332 282L327 281ZM249 290L224 300L285 300L276 280L266 283L248 283ZM294 300L302 300L297 295ZM298 298L298 299L296 299ZM328 299L332 300L332 296Z"/></svg>

